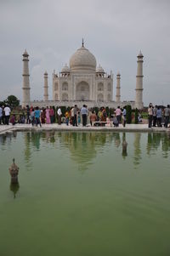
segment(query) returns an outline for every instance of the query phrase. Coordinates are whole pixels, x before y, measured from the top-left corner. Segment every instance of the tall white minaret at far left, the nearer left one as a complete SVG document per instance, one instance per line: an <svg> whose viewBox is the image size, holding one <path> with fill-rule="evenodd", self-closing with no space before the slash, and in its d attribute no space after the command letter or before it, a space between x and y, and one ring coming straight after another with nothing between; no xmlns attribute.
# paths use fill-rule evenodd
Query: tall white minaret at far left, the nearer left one
<svg viewBox="0 0 170 256"><path fill-rule="evenodd" d="M28 67L28 57L29 54L24 52L23 56L23 100L22 100L22 106L26 106L30 104L30 75L29 75L29 67Z"/></svg>

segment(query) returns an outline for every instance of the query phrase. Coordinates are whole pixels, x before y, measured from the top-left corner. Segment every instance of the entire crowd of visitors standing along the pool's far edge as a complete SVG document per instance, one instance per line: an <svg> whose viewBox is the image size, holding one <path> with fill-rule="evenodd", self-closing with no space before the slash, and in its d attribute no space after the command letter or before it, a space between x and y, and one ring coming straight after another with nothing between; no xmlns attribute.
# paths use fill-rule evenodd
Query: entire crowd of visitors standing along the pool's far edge
<svg viewBox="0 0 170 256"><path fill-rule="evenodd" d="M116 110L111 114L105 110L105 107L100 107L98 112L95 112L94 109L89 109L87 105L82 105L82 108L79 109L77 105L68 108L65 112L61 111L61 107L55 110L54 106L47 106L46 108L42 107L40 109L37 107L30 107L26 105L26 109L17 115L12 113L8 105L0 106L0 124L8 125L11 122L13 125L15 123L27 123L32 126L42 126L42 124L50 124L57 122L60 125L65 123L67 126L87 126L88 123L91 126L105 126L105 124L113 124L115 127L118 127L122 123L123 127L126 126L127 122L127 110L126 107L121 109L120 106L117 106ZM167 128L170 120L170 106L167 105L166 108L160 106L153 106L151 103L148 108L148 126L151 127L162 127ZM142 122L142 116L139 113L138 122Z"/></svg>

